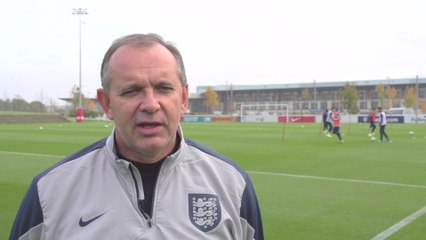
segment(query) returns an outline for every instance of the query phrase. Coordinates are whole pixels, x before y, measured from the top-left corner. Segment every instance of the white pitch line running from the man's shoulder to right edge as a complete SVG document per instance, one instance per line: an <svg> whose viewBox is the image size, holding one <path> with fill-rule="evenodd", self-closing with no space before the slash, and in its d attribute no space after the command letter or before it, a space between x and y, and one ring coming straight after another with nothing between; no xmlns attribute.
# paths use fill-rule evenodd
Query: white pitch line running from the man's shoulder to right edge
<svg viewBox="0 0 426 240"><path fill-rule="evenodd" d="M396 186L396 187L409 187L409 188L424 188L424 189L426 189L426 186L423 186L423 185L413 185L413 184L403 184L403 183L368 181L368 180L347 179L347 178L318 177L318 176L297 175L297 174L288 174L288 173L272 173L272 172L258 172L258 171L247 171L247 172L253 173L253 174L271 175L271 176L308 178L308 179L319 179L319 180L328 180L328 181L367 183L367 184L388 185L388 186Z"/></svg>

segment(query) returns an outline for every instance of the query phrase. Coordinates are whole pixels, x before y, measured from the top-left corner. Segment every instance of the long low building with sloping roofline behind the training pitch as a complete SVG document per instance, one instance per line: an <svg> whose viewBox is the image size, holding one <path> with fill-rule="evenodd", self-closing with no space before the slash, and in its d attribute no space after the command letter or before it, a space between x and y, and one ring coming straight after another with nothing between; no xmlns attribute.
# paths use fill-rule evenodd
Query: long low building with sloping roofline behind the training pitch
<svg viewBox="0 0 426 240"><path fill-rule="evenodd" d="M336 106L343 108L340 91L346 85L355 86L358 92L358 109L367 112L381 105L376 86L396 89L396 97L387 99L384 107L403 107L404 95L408 87L416 90L418 99L426 99L426 78L383 79L341 82L311 82L291 84L259 85L217 85L212 86L218 94L219 106L215 111L223 114L238 114L241 105L247 104L288 104L290 111L321 112ZM190 94L189 111L206 113L204 92L207 86L198 86L196 93ZM306 92L309 92L307 98ZM386 106L385 106L386 105Z"/></svg>

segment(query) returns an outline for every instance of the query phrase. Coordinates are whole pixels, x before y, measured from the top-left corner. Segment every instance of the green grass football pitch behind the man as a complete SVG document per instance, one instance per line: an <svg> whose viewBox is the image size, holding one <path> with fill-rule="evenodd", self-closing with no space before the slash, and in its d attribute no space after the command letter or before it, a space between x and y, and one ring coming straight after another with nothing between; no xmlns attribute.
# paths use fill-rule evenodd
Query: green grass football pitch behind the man
<svg viewBox="0 0 426 240"><path fill-rule="evenodd" d="M291 123L285 129L278 123L182 126L185 137L229 156L248 171L266 239L426 235L424 124L390 124L387 133L393 143L378 143L368 139L367 124L344 123L342 144L335 136L326 137L320 124ZM0 239L8 238L32 178L107 136L112 127L105 122L0 125ZM393 227L401 222L403 227Z"/></svg>

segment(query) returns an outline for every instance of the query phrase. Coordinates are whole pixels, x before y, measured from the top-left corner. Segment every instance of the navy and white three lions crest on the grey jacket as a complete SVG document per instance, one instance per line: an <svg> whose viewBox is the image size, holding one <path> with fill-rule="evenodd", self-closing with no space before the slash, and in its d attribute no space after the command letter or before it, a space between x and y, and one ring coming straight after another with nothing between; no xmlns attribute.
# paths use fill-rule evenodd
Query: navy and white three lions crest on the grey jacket
<svg viewBox="0 0 426 240"><path fill-rule="evenodd" d="M214 229L220 222L220 201L213 194L189 194L189 219L203 232Z"/></svg>

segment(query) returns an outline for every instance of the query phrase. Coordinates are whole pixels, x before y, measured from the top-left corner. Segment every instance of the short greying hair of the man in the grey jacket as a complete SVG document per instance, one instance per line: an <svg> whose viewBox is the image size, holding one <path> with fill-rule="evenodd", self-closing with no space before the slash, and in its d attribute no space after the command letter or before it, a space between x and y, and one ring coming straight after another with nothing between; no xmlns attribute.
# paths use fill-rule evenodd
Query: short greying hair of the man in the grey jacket
<svg viewBox="0 0 426 240"><path fill-rule="evenodd" d="M182 86L186 86L187 79L186 79L186 72L185 72L185 66L183 64L183 58L179 50L173 45L171 42L167 42L158 34L155 33L148 33L148 34L132 34L127 35L121 38L116 39L109 49L106 51L104 55L104 59L102 60L101 65L101 81L102 81L102 87L104 88L105 92L109 92L110 87L110 72L108 69L109 61L111 60L111 56L117 51L118 48L122 46L132 46L132 47L150 47L155 44L160 44L167 48L167 50L170 51L170 53L173 55L173 57L176 60L177 64L177 72L180 78L180 81L182 83Z"/></svg>

